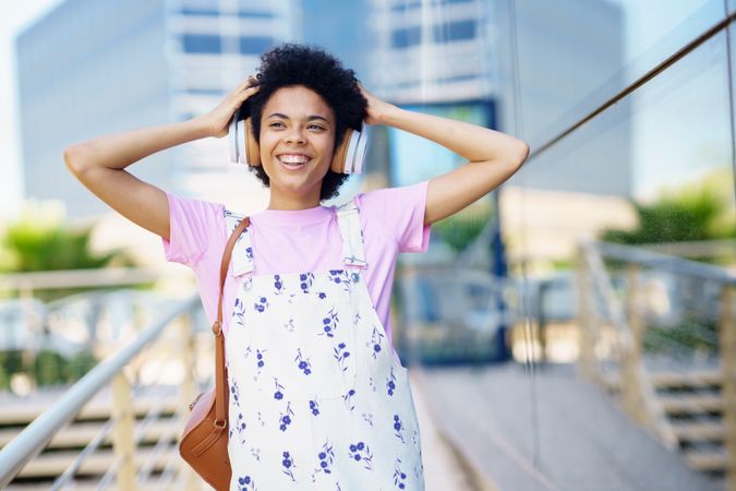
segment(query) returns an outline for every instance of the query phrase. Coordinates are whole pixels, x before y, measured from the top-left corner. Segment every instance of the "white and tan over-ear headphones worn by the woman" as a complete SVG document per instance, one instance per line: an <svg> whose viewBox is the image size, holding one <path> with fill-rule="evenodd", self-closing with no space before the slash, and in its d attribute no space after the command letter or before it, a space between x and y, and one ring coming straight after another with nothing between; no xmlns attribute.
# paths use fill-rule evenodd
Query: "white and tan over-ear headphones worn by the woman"
<svg viewBox="0 0 736 491"><path fill-rule="evenodd" d="M231 161L248 164L252 167L261 165L261 151L253 136L248 100L232 116L228 137ZM367 127L361 121L361 131L352 128L346 130L342 141L335 148L329 168L337 173L361 173L366 148Z"/></svg>

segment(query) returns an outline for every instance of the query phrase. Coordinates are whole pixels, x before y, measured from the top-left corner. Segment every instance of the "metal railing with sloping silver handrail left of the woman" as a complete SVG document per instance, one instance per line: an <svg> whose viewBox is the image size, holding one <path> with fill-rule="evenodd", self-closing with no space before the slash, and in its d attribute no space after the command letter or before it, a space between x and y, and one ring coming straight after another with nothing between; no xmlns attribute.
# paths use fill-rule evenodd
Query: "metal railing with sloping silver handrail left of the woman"
<svg viewBox="0 0 736 491"><path fill-rule="evenodd" d="M88 273L86 276L86 279L89 279ZM134 275L128 279L130 283L137 283L141 275ZM107 282L107 284L114 284L114 282ZM86 284L81 282L80 285ZM86 459L108 441L111 443L113 460L97 482L97 489L105 489L114 481L118 489L133 490L143 481L148 480L154 471L154 462L159 462L161 455L172 448L171 442L177 440L176 433L181 427L180 418L184 416L188 404L193 399L197 388L195 379L202 379L202 376L197 379L194 373L197 369L195 362L197 357L194 355L197 345L194 339L193 319L200 312L198 295L184 300L168 300L159 307L154 320L140 331L130 344L94 367L0 451L0 488L4 489L28 463L38 457L55 435L72 424L93 399L98 396L102 399L102 392L107 387L110 388L111 398L109 419L100 426L96 435L86 442L86 446L79 451L74 462L63 472L60 472L51 489L61 489L72 484L76 474L83 470ZM177 331L172 332L172 328ZM179 344L172 346L171 343L157 345L155 342L164 337L162 334L179 340L181 346ZM156 348L155 352L150 352L152 348ZM161 357L167 361L171 361L172 358L178 359L181 368L178 370L181 372L180 380L174 382L176 410L169 418L169 421L173 421L174 424L164 427L157 435L153 450L148 448L150 452L146 453L146 462L136 469L136 451L147 427L162 421L161 412L166 397L161 396L161 387L171 388L170 385L152 387L150 384L158 384L159 379L142 375L145 370L158 372L159 375L164 375L167 371L171 372L160 369L160 364L150 370L152 363L156 364L157 358ZM204 372L207 372L206 367L202 368ZM157 402L147 410L142 420L137 420L136 416L140 416L140 411L134 407L136 404L134 396L152 391L156 394ZM178 479L174 484L177 489L194 489L198 486L198 479L192 472L186 471L178 454L169 455L169 458L164 462L162 470L160 465L157 468L160 470L156 481L157 486L169 486L174 477Z"/></svg>

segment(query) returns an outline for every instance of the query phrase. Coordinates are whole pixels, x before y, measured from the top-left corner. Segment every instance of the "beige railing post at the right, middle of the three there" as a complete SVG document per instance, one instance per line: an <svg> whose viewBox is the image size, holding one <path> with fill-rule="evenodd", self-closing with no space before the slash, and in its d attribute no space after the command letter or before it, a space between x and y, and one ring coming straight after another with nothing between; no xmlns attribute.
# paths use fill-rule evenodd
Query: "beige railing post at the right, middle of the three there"
<svg viewBox="0 0 736 491"><path fill-rule="evenodd" d="M643 398L643 381L641 378L642 338L644 321L640 306L640 275L641 266L629 264L628 287L626 290L627 325L631 333L631 344L622 354L622 405L631 419L643 426L650 421L649 412Z"/></svg>

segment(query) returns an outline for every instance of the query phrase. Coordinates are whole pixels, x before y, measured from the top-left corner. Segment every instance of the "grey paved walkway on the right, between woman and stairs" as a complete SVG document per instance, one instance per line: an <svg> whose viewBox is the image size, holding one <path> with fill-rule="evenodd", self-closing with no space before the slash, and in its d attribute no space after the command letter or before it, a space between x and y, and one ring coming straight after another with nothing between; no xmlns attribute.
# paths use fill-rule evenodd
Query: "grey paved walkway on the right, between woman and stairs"
<svg viewBox="0 0 736 491"><path fill-rule="evenodd" d="M410 370L433 431L498 490L722 489L632 424L572 366L538 369L533 382L516 363Z"/></svg>

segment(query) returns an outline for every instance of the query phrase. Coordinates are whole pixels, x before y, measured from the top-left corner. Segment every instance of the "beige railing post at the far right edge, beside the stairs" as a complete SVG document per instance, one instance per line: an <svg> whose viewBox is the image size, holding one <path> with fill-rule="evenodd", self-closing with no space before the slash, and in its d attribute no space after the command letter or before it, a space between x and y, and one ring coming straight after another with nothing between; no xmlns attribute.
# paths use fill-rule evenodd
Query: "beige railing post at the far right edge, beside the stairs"
<svg viewBox="0 0 736 491"><path fill-rule="evenodd" d="M723 371L723 421L726 448L726 489L736 491L736 292L725 285L721 296L719 345Z"/></svg>

